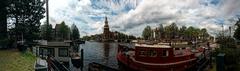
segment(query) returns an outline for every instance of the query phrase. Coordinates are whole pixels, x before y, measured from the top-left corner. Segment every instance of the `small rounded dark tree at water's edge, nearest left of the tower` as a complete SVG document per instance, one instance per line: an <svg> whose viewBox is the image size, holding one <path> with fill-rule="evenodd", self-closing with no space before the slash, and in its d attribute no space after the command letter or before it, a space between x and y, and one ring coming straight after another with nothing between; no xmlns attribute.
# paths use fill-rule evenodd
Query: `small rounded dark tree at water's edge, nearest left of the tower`
<svg viewBox="0 0 240 71"><path fill-rule="evenodd" d="M71 39L78 40L80 38L79 30L75 24L71 26Z"/></svg>

